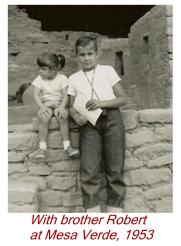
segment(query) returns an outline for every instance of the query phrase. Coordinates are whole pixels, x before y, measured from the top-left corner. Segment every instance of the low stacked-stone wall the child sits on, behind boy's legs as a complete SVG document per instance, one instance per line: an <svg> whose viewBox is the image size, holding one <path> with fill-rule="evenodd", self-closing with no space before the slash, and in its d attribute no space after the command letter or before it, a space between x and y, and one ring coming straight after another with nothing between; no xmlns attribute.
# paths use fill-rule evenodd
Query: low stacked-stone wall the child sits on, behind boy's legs
<svg viewBox="0 0 181 246"><path fill-rule="evenodd" d="M126 212L172 212L172 112L122 111L126 129ZM9 212L82 212L80 161L62 149L57 122L50 123L48 156L37 162L37 119L9 125ZM73 146L79 133L71 132Z"/></svg>

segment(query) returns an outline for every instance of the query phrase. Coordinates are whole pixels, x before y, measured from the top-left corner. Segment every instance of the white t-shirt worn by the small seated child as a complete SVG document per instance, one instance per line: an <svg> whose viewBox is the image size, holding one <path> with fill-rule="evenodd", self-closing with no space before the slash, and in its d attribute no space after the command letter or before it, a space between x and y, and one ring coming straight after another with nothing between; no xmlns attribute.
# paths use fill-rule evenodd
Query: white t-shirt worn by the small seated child
<svg viewBox="0 0 181 246"><path fill-rule="evenodd" d="M69 84L68 78L63 74L57 74L53 80L43 79L40 75L32 82L32 85L38 87L41 93L43 103L59 103L63 99L62 89Z"/></svg>

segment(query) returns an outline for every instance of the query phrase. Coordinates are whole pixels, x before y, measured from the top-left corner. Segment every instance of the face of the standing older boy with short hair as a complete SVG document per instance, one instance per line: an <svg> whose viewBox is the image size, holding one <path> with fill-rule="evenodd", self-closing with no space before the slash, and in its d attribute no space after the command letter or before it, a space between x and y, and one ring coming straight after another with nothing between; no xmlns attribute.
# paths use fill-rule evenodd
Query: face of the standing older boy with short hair
<svg viewBox="0 0 181 246"><path fill-rule="evenodd" d="M90 42L86 46L78 46L77 56L83 71L89 71L95 68L97 64L97 52L93 42Z"/></svg>

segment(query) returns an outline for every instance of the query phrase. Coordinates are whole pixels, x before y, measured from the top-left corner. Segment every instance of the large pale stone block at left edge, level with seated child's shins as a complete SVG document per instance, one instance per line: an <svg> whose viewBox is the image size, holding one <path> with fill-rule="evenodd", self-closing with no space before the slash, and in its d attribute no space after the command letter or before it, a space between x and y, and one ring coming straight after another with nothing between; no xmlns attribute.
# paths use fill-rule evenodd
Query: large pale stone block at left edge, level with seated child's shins
<svg viewBox="0 0 181 246"><path fill-rule="evenodd" d="M8 134L9 150L33 150L37 148L38 136L33 132L16 132Z"/></svg>

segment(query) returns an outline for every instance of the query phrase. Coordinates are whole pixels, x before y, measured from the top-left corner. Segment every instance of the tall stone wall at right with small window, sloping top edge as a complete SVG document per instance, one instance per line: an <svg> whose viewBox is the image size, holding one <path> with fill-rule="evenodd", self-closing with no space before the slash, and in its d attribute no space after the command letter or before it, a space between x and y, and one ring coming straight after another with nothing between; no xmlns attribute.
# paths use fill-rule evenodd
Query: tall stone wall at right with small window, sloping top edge
<svg viewBox="0 0 181 246"><path fill-rule="evenodd" d="M140 108L172 104L172 19L172 6L158 5L131 27L127 83Z"/></svg>

